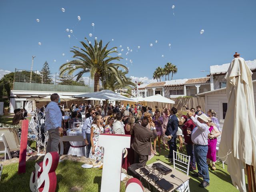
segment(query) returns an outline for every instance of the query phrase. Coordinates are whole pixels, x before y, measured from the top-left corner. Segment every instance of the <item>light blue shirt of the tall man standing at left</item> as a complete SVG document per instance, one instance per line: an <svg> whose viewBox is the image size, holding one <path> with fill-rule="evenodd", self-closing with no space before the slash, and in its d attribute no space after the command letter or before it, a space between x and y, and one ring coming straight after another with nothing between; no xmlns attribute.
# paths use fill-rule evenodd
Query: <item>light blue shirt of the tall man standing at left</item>
<svg viewBox="0 0 256 192"><path fill-rule="evenodd" d="M58 103L51 101L45 109L45 127L44 130L56 129L61 127L62 113Z"/></svg>

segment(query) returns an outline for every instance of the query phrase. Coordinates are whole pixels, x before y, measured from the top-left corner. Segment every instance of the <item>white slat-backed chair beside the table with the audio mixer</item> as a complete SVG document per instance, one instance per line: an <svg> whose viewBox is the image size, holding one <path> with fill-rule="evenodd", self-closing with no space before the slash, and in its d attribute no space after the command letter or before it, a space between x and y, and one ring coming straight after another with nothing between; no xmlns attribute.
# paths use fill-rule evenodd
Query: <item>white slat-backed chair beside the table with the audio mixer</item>
<svg viewBox="0 0 256 192"><path fill-rule="evenodd" d="M189 164L190 164L190 156L184 155L182 153L172 151L173 152L173 167L174 169L178 169L188 176L189 173ZM189 190L189 180L181 184L178 188L176 188L178 192L190 192Z"/></svg>

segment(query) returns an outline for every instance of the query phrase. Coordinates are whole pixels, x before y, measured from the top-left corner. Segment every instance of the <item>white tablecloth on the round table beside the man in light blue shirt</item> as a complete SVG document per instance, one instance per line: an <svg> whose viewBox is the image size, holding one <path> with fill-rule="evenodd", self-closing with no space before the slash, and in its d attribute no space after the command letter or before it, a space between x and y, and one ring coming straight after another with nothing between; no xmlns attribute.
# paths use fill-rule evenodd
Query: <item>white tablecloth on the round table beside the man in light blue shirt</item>
<svg viewBox="0 0 256 192"><path fill-rule="evenodd" d="M67 136L78 136L82 135L82 131L71 131L67 130ZM84 146L84 147L72 147L72 146ZM77 155L77 156L85 156L86 154L86 146L84 141L70 141L70 148L68 150L68 155Z"/></svg>

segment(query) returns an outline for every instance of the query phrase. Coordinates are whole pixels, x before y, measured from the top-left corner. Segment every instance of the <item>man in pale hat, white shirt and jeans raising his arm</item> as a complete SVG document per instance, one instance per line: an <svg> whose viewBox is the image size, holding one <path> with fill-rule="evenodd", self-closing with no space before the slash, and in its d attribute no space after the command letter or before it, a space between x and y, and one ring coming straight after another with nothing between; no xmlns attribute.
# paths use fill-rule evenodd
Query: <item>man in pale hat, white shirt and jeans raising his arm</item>
<svg viewBox="0 0 256 192"><path fill-rule="evenodd" d="M209 170L206 162L206 155L208 152L208 134L210 133L207 125L208 117L205 114L201 114L196 119L190 110L187 110L187 112L189 118L191 118L196 125L191 132L191 140L194 143L194 155L196 157L198 173L192 174L192 176L202 177L204 180L199 184L199 186L205 188L210 185Z"/></svg>

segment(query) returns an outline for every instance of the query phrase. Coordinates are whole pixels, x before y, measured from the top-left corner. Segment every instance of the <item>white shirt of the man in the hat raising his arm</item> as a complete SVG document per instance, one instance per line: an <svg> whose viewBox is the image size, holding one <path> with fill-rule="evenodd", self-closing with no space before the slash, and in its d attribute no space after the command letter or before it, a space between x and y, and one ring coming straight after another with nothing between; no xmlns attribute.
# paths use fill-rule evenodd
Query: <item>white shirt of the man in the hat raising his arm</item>
<svg viewBox="0 0 256 192"><path fill-rule="evenodd" d="M196 125L191 133L192 142L198 145L208 145L208 134L210 133L208 125L200 123L193 116L191 116L190 118Z"/></svg>

